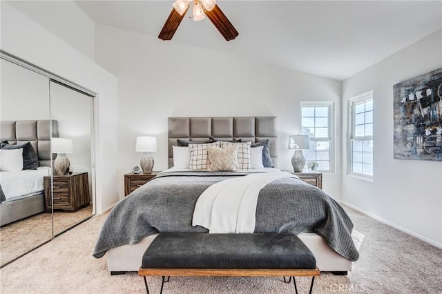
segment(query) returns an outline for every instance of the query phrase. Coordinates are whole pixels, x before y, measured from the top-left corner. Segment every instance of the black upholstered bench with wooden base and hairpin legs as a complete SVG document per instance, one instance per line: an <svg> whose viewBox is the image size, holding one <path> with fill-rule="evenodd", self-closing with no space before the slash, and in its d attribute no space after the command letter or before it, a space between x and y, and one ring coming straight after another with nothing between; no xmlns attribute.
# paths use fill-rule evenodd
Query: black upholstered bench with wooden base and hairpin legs
<svg viewBox="0 0 442 294"><path fill-rule="evenodd" d="M143 255L138 274L162 276L289 276L320 275L316 259L290 234L161 233ZM169 280L169 279L168 279ZM285 280L285 278L284 278ZM289 280L290 282L290 280Z"/></svg>

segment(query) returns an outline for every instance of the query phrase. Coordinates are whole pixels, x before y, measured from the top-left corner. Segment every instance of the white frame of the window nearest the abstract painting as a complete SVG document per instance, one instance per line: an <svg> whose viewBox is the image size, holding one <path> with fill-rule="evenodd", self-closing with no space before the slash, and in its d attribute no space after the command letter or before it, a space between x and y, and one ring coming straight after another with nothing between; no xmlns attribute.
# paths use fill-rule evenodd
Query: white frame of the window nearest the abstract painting
<svg viewBox="0 0 442 294"><path fill-rule="evenodd" d="M349 125L349 132L348 132L348 140L347 140L347 150L349 150L348 155L348 164L347 164L347 174L351 175L352 177L357 177L360 179L365 179L367 181L373 182L374 177L374 150L372 150L372 175L369 175L367 173L356 173L353 171L353 143L354 141L372 141L372 146L374 146L374 128L372 128L372 135L367 136L356 136L355 129L356 129L356 121L355 121L355 106L356 104L365 101L372 101L372 113L374 113L374 99L373 99L373 91L365 92L361 95L357 95L355 97L352 97L348 99L348 125ZM364 111L365 113L367 111ZM362 113L362 112L361 112ZM374 126L374 119L372 118L372 126ZM365 125L365 124L364 124ZM363 162L361 163L363 164Z"/></svg>

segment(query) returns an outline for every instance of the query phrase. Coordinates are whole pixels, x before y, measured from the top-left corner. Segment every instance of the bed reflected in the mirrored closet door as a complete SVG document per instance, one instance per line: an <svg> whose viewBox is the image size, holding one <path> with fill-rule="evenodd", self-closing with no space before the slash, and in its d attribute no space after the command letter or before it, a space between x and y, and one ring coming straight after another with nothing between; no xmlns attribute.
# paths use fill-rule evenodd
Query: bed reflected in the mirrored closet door
<svg viewBox="0 0 442 294"><path fill-rule="evenodd" d="M0 171L0 226L44 212L44 176L50 175L50 130L58 137L57 121L1 121L0 139L10 145L30 142L36 169Z"/></svg>

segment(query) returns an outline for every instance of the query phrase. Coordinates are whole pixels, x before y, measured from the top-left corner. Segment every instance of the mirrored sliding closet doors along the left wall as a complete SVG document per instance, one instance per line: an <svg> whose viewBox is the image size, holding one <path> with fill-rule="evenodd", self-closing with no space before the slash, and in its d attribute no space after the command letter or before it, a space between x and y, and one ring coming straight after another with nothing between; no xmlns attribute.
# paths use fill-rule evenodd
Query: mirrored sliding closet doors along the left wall
<svg viewBox="0 0 442 294"><path fill-rule="evenodd" d="M95 213L95 95L6 52L0 62L0 266L5 266ZM66 167L66 159L70 168L60 172L56 168Z"/></svg>

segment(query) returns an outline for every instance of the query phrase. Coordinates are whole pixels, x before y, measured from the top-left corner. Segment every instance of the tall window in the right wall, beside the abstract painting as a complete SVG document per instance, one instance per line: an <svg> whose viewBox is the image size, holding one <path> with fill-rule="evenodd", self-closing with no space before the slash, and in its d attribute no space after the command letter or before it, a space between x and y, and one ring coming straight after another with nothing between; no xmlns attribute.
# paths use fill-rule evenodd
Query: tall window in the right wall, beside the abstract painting
<svg viewBox="0 0 442 294"><path fill-rule="evenodd" d="M352 175L373 177L373 92L349 100L351 131L349 171Z"/></svg>

